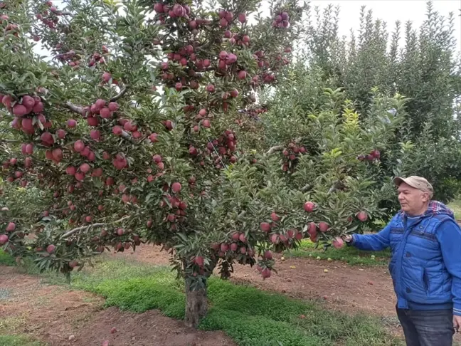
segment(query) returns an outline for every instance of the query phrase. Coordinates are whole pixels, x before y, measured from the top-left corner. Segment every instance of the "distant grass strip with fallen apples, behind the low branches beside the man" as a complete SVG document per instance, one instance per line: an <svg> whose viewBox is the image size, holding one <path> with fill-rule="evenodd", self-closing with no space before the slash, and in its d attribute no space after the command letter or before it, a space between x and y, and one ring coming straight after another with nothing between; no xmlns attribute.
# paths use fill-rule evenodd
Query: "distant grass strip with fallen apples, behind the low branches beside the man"
<svg viewBox="0 0 461 346"><path fill-rule="evenodd" d="M334 248L330 246L327 251L322 247L314 248L315 244L309 239L304 239L300 248L297 250L285 251L285 257L311 257L319 260L343 261L351 266L383 266L387 265L391 257L391 251L361 251L353 246L344 246L343 248ZM319 257L319 258L318 258Z"/></svg>

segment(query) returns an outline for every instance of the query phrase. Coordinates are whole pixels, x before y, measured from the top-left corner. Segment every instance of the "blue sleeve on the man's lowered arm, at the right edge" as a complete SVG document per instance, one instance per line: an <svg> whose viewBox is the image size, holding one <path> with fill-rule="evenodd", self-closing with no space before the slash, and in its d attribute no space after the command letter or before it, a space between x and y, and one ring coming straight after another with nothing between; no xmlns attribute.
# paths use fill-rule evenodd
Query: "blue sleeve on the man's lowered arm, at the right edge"
<svg viewBox="0 0 461 346"><path fill-rule="evenodd" d="M437 230L443 262L452 276L453 315L461 316L461 229L455 221L445 221Z"/></svg>

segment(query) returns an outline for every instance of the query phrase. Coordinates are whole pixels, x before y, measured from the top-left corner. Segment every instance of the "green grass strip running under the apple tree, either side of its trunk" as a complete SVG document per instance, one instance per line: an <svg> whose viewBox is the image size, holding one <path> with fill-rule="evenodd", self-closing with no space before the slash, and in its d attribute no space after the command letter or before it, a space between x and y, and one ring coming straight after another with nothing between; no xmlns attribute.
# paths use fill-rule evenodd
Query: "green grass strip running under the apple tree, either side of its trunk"
<svg viewBox="0 0 461 346"><path fill-rule="evenodd" d="M50 283L64 283L63 276L46 273L45 277ZM106 306L137 313L159 309L170 318L184 319L184 283L176 281L169 267L122 258L104 261L73 274L71 287L104 296ZM208 298L208 315L199 328L223 330L241 346L403 345L375 318L331 312L321 303L216 277L209 281Z"/></svg>

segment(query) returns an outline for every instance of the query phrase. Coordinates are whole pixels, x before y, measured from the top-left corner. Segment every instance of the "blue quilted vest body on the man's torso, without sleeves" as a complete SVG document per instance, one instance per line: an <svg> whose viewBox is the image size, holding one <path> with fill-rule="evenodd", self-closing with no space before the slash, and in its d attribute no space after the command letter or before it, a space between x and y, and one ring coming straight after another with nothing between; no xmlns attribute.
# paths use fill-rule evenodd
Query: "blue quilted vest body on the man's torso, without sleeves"
<svg viewBox="0 0 461 346"><path fill-rule="evenodd" d="M452 308L452 279L435 236L447 220L446 214L426 214L407 227L402 212L391 220L389 271L398 308Z"/></svg>

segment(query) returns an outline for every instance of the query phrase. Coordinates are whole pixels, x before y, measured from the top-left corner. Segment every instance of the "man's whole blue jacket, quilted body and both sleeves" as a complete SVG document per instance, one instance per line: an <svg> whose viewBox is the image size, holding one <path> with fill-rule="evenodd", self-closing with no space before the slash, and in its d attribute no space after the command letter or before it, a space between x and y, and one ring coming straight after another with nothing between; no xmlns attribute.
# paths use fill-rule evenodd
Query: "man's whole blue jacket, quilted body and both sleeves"
<svg viewBox="0 0 461 346"><path fill-rule="evenodd" d="M430 201L417 217L399 211L382 231L354 234L350 244L369 251L391 247L398 308L453 309L461 316L461 229L445 204Z"/></svg>

